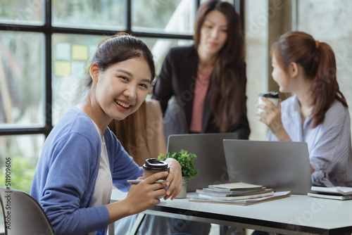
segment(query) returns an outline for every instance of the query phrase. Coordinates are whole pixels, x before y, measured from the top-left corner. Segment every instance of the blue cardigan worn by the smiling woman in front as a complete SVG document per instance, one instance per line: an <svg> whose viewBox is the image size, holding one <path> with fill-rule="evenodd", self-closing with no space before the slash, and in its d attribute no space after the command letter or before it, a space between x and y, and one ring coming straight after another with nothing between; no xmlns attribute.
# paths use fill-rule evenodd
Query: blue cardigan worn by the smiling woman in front
<svg viewBox="0 0 352 235"><path fill-rule="evenodd" d="M126 179L143 169L122 148L110 129L104 132L113 185L128 191ZM91 207L101 156L101 138L89 116L71 108L46 139L34 173L31 195L42 205L56 234L88 234L105 230L105 205Z"/></svg>

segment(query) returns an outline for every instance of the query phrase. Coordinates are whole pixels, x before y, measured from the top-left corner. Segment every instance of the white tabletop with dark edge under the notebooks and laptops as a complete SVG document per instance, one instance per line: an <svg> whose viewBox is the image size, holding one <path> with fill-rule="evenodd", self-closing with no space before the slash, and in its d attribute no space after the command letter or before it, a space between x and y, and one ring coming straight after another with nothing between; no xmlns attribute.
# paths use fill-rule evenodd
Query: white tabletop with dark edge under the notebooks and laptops
<svg viewBox="0 0 352 235"><path fill-rule="evenodd" d="M127 193L113 190L111 200L120 201L126 195ZM187 198L184 199L162 200L160 204L144 211L144 214L279 234L352 233L352 200L336 201L291 195L253 205L188 201L189 197L196 195L198 194L187 193Z"/></svg>

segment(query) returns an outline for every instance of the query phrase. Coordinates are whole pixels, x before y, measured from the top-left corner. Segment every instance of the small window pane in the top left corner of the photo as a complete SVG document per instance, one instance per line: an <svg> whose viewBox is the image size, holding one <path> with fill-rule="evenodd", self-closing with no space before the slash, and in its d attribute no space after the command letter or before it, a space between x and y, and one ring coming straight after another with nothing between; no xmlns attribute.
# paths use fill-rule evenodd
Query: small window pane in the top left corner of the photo
<svg viewBox="0 0 352 235"><path fill-rule="evenodd" d="M0 1L0 23L44 25L44 2L40 0Z"/></svg>

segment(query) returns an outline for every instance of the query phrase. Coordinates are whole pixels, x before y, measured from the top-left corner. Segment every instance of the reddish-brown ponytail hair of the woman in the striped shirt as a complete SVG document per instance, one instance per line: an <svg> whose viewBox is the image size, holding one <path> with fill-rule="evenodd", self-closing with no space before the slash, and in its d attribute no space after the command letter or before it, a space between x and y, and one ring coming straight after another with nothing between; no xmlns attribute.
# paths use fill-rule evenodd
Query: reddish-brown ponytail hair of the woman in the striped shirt
<svg viewBox="0 0 352 235"><path fill-rule="evenodd" d="M315 41L306 32L287 32L272 44L271 54L277 64L288 75L289 64L301 65L309 80L313 81L313 124L318 127L334 99L347 107L344 95L337 83L337 65L334 51L325 42Z"/></svg>

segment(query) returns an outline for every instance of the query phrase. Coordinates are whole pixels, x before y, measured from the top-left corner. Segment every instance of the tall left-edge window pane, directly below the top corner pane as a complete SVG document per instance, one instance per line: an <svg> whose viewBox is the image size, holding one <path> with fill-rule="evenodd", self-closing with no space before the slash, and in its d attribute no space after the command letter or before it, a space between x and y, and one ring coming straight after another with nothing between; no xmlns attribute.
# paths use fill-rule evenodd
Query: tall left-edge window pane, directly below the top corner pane
<svg viewBox="0 0 352 235"><path fill-rule="evenodd" d="M0 127L44 126L44 35L0 34Z"/></svg>

